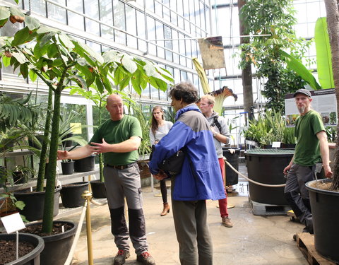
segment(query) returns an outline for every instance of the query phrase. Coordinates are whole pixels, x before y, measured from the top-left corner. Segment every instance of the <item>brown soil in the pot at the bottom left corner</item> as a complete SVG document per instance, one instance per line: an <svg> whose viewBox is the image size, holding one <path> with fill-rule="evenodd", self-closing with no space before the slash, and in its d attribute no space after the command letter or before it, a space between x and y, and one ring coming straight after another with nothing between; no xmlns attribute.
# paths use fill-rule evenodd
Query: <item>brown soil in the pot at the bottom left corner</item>
<svg viewBox="0 0 339 265"><path fill-rule="evenodd" d="M32 252L35 245L30 242L19 243L19 258ZM16 260L16 241L15 240L0 240L0 265L4 265Z"/></svg>

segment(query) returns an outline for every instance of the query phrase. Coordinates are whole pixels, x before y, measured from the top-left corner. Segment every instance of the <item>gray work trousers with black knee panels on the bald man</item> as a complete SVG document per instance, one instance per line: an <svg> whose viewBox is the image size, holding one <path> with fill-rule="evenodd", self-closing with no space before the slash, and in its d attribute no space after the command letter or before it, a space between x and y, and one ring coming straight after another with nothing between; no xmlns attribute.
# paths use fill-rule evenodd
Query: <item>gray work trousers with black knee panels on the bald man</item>
<svg viewBox="0 0 339 265"><path fill-rule="evenodd" d="M148 250L143 216L143 197L138 164L124 170L104 167L107 201L111 213L112 234L118 249L129 250L129 237L136 254ZM124 216L125 199L129 208L129 229Z"/></svg>

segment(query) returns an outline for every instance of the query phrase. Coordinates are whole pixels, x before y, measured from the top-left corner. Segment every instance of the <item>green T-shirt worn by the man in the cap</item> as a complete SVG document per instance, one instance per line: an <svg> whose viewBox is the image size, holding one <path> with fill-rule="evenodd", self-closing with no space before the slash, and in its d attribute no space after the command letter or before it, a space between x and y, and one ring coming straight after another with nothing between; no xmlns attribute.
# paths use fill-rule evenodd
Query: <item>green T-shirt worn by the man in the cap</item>
<svg viewBox="0 0 339 265"><path fill-rule="evenodd" d="M316 137L320 131L325 131L323 120L318 112L310 110L295 121L295 146L294 163L303 166L314 165L321 161L319 139Z"/></svg>

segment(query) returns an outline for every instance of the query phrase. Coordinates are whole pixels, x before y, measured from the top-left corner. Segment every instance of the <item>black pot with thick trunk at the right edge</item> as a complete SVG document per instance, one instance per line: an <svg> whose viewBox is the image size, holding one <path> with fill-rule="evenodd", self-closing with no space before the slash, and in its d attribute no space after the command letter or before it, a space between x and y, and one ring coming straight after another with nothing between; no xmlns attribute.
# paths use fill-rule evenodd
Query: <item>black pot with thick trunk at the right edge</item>
<svg viewBox="0 0 339 265"><path fill-rule="evenodd" d="M331 61L337 112L339 111L339 8L336 0L326 0L328 35L331 44ZM338 122L338 121L337 121ZM337 132L339 124L337 124ZM337 133L338 134L338 133ZM339 263L338 246L335 243L339 237L339 137L336 141L333 179L316 180L307 183L314 225L314 246L316 250L335 263Z"/></svg>

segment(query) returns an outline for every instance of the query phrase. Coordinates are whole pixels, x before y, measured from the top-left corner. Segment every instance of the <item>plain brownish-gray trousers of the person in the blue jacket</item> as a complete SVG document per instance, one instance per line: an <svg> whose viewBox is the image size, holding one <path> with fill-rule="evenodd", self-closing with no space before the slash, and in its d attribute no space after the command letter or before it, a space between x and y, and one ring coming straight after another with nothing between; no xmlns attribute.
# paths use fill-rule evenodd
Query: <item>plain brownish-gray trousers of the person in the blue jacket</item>
<svg viewBox="0 0 339 265"><path fill-rule="evenodd" d="M182 265L213 264L213 247L206 222L206 201L174 201L172 213Z"/></svg>

